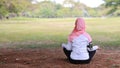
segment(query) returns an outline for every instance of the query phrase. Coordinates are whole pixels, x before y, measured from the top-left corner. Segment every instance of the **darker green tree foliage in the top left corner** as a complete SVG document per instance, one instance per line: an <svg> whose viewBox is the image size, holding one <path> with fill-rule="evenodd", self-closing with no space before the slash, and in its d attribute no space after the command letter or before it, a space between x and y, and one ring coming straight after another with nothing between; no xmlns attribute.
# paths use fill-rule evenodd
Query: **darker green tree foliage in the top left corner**
<svg viewBox="0 0 120 68"><path fill-rule="evenodd" d="M0 0L0 17L8 13L22 12L31 4L29 0Z"/></svg>

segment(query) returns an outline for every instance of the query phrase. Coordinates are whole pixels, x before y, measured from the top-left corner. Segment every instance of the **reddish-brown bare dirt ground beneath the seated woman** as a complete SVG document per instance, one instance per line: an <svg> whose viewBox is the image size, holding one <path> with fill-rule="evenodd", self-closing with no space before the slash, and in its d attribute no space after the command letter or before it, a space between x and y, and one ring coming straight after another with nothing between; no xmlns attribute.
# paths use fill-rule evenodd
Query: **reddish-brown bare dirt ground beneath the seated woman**
<svg viewBox="0 0 120 68"><path fill-rule="evenodd" d="M90 64L71 64L61 48L0 49L0 68L120 68L120 50L98 50Z"/></svg>

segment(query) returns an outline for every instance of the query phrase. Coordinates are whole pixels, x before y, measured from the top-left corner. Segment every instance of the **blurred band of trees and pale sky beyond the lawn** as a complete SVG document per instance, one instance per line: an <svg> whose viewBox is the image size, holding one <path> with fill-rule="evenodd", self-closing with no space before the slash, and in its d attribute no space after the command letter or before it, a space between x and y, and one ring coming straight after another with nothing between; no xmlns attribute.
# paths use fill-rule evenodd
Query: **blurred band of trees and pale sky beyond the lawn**
<svg viewBox="0 0 120 68"><path fill-rule="evenodd" d="M111 16L120 16L120 0L0 0L0 19Z"/></svg>

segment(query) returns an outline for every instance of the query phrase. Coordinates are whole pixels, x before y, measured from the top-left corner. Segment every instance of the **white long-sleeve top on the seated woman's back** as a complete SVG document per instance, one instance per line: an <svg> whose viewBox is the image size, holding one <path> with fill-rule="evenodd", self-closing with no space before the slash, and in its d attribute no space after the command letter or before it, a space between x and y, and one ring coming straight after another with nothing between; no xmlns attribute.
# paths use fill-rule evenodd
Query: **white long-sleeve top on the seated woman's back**
<svg viewBox="0 0 120 68"><path fill-rule="evenodd" d="M89 53L87 51L87 45L89 44L88 38L83 34L73 39L72 42L63 44L67 50L71 50L70 57L73 60L87 60L89 59Z"/></svg>

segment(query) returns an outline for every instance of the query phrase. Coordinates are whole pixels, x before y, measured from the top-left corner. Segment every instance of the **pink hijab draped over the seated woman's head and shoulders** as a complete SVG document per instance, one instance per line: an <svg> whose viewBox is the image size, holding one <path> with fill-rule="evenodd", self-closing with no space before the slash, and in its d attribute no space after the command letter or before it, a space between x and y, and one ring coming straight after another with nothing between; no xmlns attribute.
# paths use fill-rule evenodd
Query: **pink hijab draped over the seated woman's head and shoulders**
<svg viewBox="0 0 120 68"><path fill-rule="evenodd" d="M81 34L85 35L89 42L92 41L92 38L90 37L90 35L85 31L85 21L82 18L77 18L76 22L75 22L75 27L72 31L72 33L69 35L68 37L68 41L72 41L73 39L75 39L76 37L80 36Z"/></svg>

